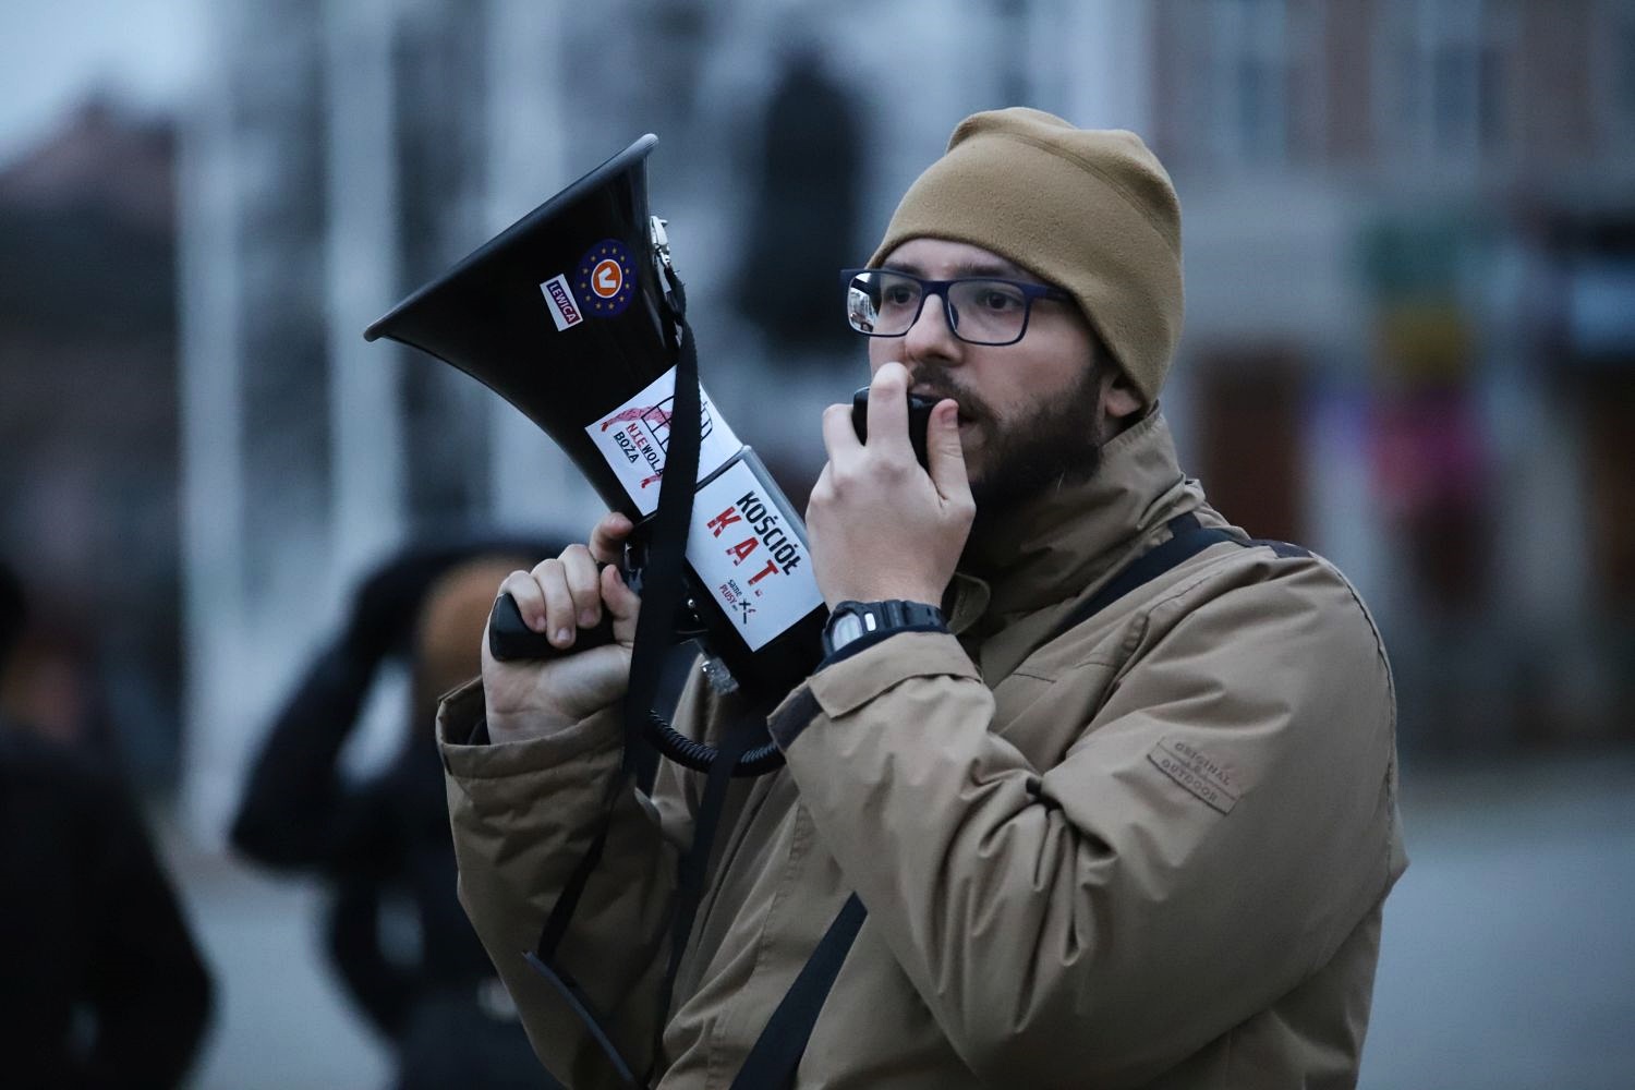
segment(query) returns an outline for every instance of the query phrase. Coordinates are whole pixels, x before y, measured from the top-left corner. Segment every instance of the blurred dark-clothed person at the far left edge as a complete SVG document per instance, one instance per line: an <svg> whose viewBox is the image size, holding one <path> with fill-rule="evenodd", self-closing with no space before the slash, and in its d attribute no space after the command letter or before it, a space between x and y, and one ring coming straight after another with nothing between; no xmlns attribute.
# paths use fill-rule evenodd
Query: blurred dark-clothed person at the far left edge
<svg viewBox="0 0 1635 1090"><path fill-rule="evenodd" d="M0 677L26 611L0 562ZM83 747L0 709L0 1082L175 1087L211 981L142 815Z"/></svg>

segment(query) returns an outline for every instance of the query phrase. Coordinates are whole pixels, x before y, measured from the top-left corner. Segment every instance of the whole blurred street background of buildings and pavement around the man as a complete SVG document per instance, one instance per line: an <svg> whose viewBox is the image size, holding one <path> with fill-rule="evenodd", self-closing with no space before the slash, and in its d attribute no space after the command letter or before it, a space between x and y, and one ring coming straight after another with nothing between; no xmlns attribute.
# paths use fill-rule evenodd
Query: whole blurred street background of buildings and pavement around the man
<svg viewBox="0 0 1635 1090"><path fill-rule="evenodd" d="M1635 0L10 0L0 72L0 708L144 801L216 979L191 1085L389 1077L327 894L229 845L250 762L397 549L600 510L363 328L656 132L705 386L803 505L867 376L834 270L1002 105L1167 165L1182 464L1385 632L1413 864L1362 1085L1632 1085Z"/></svg>

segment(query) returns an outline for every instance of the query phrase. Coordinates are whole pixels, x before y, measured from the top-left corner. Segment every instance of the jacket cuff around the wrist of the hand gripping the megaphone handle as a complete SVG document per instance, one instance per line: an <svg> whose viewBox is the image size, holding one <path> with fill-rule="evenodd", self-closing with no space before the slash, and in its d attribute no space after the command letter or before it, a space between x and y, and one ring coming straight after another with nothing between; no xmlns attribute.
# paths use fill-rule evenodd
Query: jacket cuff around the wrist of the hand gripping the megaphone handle
<svg viewBox="0 0 1635 1090"><path fill-rule="evenodd" d="M536 739L487 742L481 680L451 691L437 713L437 744L443 768L456 780L526 776L587 753L616 750L623 742L620 704Z"/></svg>

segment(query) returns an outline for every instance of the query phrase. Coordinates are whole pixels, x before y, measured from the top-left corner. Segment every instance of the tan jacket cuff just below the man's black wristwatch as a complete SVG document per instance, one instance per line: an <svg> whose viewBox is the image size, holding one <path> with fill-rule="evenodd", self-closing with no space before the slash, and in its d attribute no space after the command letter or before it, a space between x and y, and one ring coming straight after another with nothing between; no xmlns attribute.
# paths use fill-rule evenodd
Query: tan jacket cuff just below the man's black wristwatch
<svg viewBox="0 0 1635 1090"><path fill-rule="evenodd" d="M788 750L819 714L845 716L916 677L979 680L981 673L948 632L896 632L814 673L772 713L767 729L778 748Z"/></svg>

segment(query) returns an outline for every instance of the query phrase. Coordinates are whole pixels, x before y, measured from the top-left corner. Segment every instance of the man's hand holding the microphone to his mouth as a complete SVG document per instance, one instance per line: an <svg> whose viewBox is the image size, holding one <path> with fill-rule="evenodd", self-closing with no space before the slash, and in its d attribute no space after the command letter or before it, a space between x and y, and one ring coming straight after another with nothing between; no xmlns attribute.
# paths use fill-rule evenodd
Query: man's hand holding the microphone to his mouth
<svg viewBox="0 0 1635 1090"><path fill-rule="evenodd" d="M909 373L888 363L868 391L868 444L852 430L850 405L822 418L829 464L806 507L813 569L824 601L942 603L971 533L976 503L965 474L953 400L930 413L927 471L909 444Z"/></svg>

